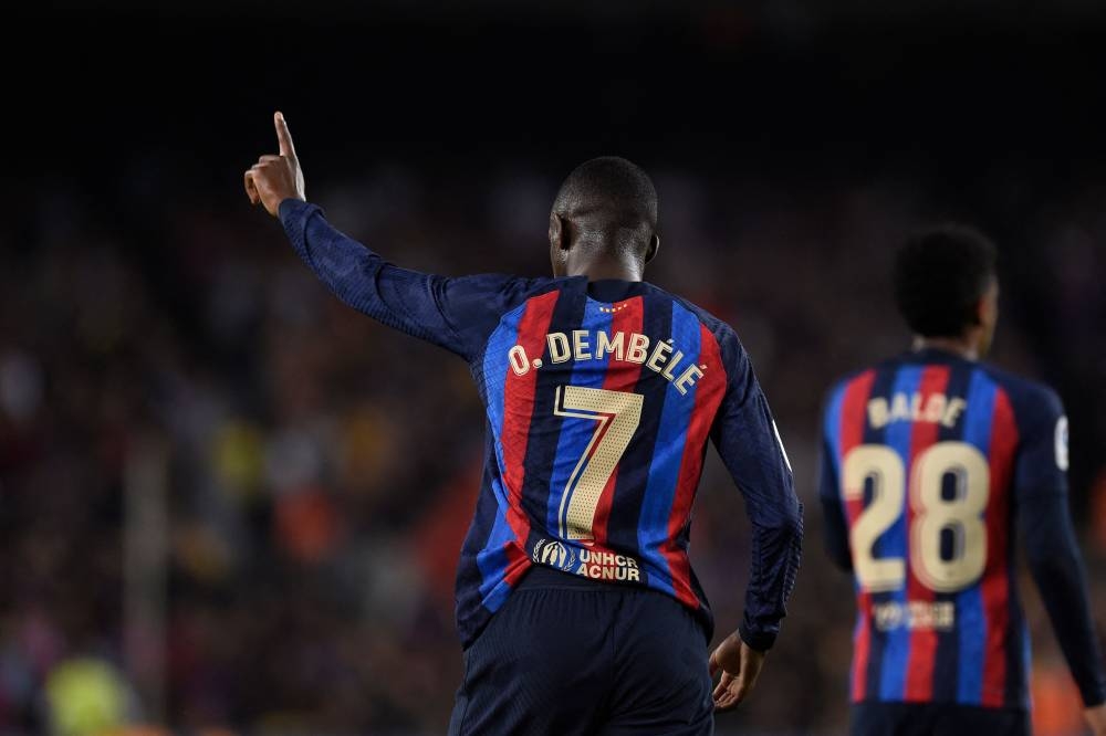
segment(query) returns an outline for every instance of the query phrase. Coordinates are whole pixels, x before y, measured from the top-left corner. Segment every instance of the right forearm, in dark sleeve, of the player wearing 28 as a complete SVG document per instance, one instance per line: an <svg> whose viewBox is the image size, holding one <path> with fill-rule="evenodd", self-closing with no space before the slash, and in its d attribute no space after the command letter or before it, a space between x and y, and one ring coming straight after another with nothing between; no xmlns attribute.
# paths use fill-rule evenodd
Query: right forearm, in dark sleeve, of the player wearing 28
<svg viewBox="0 0 1106 736"><path fill-rule="evenodd" d="M1095 635L1083 561L1066 496L1034 500L1021 511L1030 571L1084 704L1106 701L1106 675Z"/></svg>

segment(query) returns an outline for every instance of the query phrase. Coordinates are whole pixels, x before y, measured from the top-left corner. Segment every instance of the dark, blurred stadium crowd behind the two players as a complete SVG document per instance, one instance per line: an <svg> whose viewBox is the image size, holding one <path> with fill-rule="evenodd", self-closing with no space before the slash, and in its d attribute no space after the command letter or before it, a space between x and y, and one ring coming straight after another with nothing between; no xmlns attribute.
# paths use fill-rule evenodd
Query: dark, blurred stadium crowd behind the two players
<svg viewBox="0 0 1106 736"><path fill-rule="evenodd" d="M720 734L844 727L852 589L821 550L817 413L835 376L907 345L887 272L920 223L967 219L1001 245L995 358L1067 403L1106 624L1096 4L12 10L0 734L444 730L481 409L461 361L337 304L248 207L274 108L333 222L448 274L545 272L549 204L588 157L654 175L649 278L737 327L807 504L783 637ZM744 529L712 460L692 557L720 630L741 610ZM1040 733L1078 733L1023 591Z"/></svg>

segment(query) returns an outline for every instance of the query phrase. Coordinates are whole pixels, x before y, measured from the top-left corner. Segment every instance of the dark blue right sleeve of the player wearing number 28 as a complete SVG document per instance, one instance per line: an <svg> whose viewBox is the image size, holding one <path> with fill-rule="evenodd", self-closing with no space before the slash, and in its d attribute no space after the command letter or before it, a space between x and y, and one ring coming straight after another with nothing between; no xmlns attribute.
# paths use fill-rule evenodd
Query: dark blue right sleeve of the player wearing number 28
<svg viewBox="0 0 1106 736"><path fill-rule="evenodd" d="M1067 420L1051 392L1022 413L1024 437L1015 467L1018 523L1030 572L1089 707L1106 702L1106 674L1067 507Z"/></svg>

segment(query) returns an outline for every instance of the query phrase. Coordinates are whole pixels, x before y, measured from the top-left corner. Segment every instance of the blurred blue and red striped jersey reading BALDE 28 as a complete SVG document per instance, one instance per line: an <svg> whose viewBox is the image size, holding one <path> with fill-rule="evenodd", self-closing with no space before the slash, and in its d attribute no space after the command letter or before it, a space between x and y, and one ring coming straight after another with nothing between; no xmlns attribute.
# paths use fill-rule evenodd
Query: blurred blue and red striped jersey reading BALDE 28
<svg viewBox="0 0 1106 736"><path fill-rule="evenodd" d="M1015 527L1061 508L1055 528L1027 539L1031 560L1074 547L1066 432L1050 389L939 350L831 391L820 494L830 553L855 578L853 702L1029 707ZM1074 592L1042 593L1071 595L1054 623L1092 662L1081 687L1095 700L1100 665L1074 554Z"/></svg>

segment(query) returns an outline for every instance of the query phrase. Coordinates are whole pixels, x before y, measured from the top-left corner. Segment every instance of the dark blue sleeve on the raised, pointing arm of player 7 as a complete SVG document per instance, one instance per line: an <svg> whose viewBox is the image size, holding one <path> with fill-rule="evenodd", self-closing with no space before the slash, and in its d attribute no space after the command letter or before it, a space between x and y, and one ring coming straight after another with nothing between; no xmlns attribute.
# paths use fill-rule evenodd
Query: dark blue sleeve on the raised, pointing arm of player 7
<svg viewBox="0 0 1106 736"><path fill-rule="evenodd" d="M532 281L502 274L448 278L392 265L333 228L322 210L286 199L280 219L292 248L348 306L407 335L471 358Z"/></svg>

